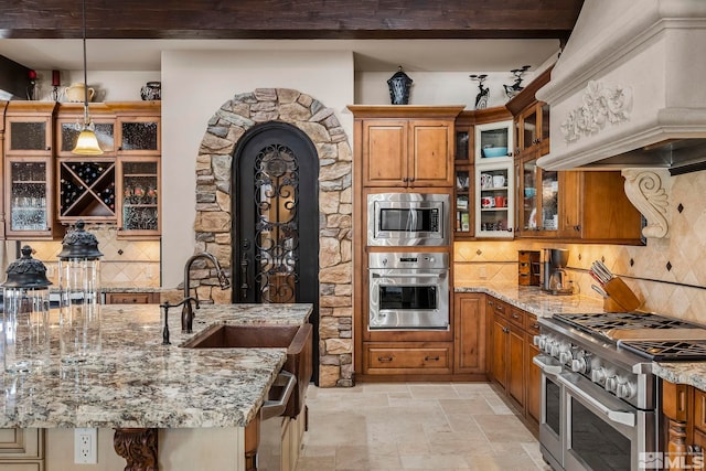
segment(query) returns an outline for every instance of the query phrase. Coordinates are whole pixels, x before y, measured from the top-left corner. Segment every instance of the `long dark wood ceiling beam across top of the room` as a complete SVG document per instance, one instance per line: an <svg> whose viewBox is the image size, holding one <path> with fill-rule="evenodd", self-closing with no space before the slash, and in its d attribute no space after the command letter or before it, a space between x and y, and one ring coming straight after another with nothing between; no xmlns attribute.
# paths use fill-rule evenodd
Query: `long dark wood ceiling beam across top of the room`
<svg viewBox="0 0 706 471"><path fill-rule="evenodd" d="M584 0L86 0L88 38L559 39ZM81 38L81 0L0 0L0 38Z"/></svg>

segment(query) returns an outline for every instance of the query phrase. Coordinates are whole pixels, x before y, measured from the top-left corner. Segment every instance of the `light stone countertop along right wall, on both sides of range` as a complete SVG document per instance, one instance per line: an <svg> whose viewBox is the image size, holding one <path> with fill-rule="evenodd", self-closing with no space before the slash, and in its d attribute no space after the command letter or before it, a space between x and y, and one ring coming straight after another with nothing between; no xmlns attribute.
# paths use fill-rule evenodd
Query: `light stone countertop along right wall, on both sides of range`
<svg viewBox="0 0 706 471"><path fill-rule="evenodd" d="M603 312L600 300L584 296L552 296L538 287L516 283L483 283L472 287L454 287L454 292L484 292L537 317L555 313ZM652 372L660 378L675 384L687 384L706 390L706 362L652 362Z"/></svg>

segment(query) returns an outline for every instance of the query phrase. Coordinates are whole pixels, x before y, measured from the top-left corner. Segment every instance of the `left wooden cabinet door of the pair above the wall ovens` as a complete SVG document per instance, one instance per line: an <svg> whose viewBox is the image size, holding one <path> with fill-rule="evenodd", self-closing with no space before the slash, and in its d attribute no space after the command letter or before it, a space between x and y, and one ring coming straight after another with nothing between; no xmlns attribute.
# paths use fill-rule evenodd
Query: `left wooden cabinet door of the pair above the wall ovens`
<svg viewBox="0 0 706 471"><path fill-rule="evenodd" d="M363 122L363 185L406 183L407 132L405 120Z"/></svg>

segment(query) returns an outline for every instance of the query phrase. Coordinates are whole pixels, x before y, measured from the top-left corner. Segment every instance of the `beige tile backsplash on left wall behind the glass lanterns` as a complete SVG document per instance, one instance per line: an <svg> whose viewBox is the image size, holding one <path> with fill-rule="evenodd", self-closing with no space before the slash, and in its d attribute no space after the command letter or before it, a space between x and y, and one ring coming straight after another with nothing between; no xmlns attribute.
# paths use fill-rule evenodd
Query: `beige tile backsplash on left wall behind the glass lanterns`
<svg viewBox="0 0 706 471"><path fill-rule="evenodd" d="M160 280L160 242L159 240L124 240L117 238L117 229L105 225L86 225L98 239L100 259L100 283L104 288L159 288ZM46 266L47 277L57 285L58 254L61 242L23 240L35 250L34 258ZM13 260L13 254L8 257Z"/></svg>

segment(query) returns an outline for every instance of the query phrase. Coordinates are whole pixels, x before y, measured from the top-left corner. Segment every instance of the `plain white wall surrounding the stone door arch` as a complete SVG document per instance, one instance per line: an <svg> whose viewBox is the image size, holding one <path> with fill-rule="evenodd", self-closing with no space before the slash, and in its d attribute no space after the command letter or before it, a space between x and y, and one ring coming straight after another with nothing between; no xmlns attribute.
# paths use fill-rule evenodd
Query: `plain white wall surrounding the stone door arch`
<svg viewBox="0 0 706 471"><path fill-rule="evenodd" d="M194 250L195 161L208 119L235 94L293 88L332 108L352 141L351 52L162 54L162 286L182 281ZM351 142L352 143L352 142Z"/></svg>

